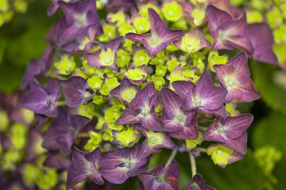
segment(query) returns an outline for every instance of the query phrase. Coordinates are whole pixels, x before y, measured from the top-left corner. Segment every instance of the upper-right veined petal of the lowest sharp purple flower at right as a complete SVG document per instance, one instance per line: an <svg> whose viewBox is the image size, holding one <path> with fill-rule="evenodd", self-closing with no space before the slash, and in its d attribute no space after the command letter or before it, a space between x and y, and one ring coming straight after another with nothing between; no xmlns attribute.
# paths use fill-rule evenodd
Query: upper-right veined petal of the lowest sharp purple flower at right
<svg viewBox="0 0 286 190"><path fill-rule="evenodd" d="M251 114L242 114L235 117L227 117L221 120L221 126L224 127L225 135L229 138L238 138L250 126L253 121Z"/></svg>

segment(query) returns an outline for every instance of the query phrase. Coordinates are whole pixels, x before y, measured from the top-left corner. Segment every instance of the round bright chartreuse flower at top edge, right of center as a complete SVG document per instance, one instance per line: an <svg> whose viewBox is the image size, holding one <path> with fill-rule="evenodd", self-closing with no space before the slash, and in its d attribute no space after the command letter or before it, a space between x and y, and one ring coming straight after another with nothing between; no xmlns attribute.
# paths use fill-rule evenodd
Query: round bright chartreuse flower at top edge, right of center
<svg viewBox="0 0 286 190"><path fill-rule="evenodd" d="M165 18L171 22L177 21L183 14L181 5L176 1L164 1L161 10Z"/></svg>

